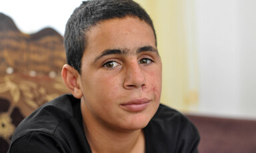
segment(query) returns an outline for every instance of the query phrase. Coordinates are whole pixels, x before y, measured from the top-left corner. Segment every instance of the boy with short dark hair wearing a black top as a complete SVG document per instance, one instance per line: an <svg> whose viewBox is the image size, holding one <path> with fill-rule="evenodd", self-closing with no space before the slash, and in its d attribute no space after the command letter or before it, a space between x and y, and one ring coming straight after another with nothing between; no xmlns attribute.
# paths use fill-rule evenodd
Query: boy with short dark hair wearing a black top
<svg viewBox="0 0 256 153"><path fill-rule="evenodd" d="M65 31L71 91L23 120L9 152L197 152L199 134L159 104L161 59L153 23L131 0L92 0Z"/></svg>

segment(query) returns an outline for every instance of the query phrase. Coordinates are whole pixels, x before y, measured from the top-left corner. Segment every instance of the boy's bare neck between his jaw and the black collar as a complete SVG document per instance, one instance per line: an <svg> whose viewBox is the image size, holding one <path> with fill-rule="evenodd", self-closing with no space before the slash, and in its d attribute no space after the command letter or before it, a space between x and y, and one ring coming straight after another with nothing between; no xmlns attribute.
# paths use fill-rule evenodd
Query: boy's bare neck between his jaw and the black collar
<svg viewBox="0 0 256 153"><path fill-rule="evenodd" d="M130 131L113 129L93 119L89 114L83 114L83 127L93 153L145 152L145 136L141 129Z"/></svg>

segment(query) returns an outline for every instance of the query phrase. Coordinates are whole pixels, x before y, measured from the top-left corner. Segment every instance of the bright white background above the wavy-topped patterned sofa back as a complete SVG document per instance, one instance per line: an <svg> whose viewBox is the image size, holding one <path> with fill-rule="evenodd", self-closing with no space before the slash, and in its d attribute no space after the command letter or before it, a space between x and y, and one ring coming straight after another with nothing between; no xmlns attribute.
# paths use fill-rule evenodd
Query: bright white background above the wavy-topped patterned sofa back
<svg viewBox="0 0 256 153"><path fill-rule="evenodd" d="M11 17L23 33L52 27L64 34L67 19L83 0L0 0L0 12Z"/></svg>

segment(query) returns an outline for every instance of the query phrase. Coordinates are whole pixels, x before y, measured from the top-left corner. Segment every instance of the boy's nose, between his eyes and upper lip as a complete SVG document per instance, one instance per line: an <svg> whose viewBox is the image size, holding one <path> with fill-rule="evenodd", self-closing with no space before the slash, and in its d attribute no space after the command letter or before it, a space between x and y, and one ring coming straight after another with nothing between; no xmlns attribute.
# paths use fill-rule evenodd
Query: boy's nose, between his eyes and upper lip
<svg viewBox="0 0 256 153"><path fill-rule="evenodd" d="M139 63L131 63L126 67L123 86L126 89L145 88L145 73Z"/></svg>

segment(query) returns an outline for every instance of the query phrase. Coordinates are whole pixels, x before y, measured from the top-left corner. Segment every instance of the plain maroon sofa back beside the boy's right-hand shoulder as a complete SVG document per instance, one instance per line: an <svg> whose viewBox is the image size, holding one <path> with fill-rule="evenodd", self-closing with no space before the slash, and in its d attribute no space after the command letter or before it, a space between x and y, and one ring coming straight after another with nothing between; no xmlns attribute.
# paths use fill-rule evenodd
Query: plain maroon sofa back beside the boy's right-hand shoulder
<svg viewBox="0 0 256 153"><path fill-rule="evenodd" d="M199 152L255 153L256 120L187 114L201 136Z"/></svg>

